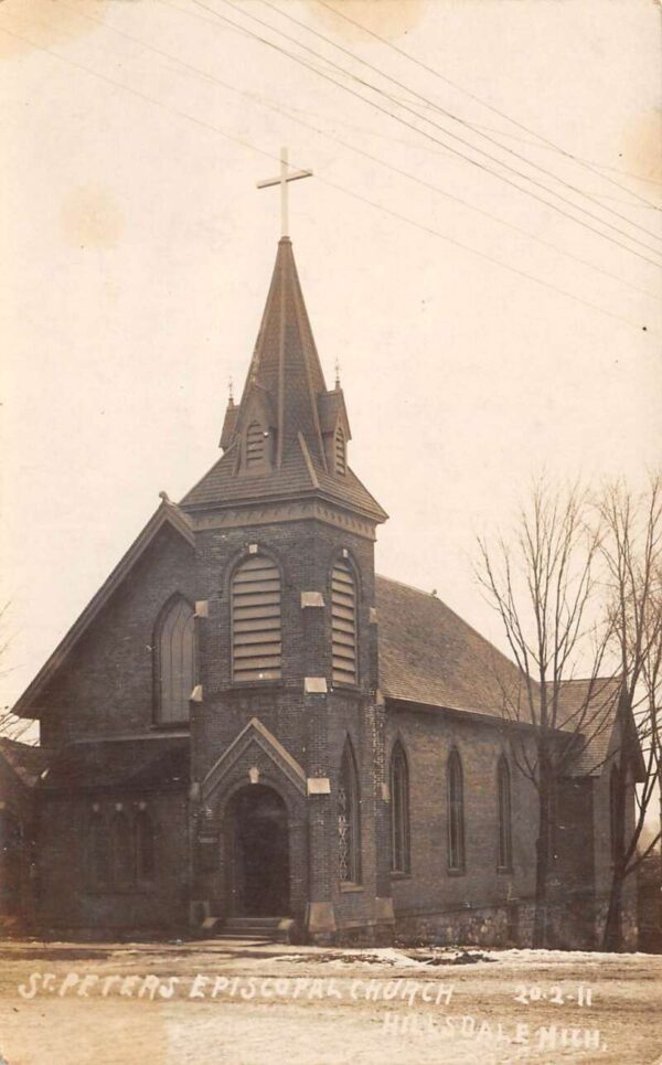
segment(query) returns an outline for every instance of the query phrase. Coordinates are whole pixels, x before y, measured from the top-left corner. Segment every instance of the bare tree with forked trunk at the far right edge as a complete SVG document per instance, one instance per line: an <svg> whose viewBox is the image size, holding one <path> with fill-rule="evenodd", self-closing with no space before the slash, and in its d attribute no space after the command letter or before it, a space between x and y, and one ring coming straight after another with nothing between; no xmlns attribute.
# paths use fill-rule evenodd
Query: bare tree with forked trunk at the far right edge
<svg viewBox="0 0 662 1065"><path fill-rule="evenodd" d="M622 946L623 884L652 851L660 833L639 853L655 790L662 775L662 477L650 478L639 497L622 483L608 486L599 503L605 528L601 553L607 568L608 629L620 659L621 734L634 721L643 752L644 773L636 790L634 824L622 826L629 787L627 752L616 752L612 818L613 870L604 946ZM662 818L662 807L661 807Z"/></svg>

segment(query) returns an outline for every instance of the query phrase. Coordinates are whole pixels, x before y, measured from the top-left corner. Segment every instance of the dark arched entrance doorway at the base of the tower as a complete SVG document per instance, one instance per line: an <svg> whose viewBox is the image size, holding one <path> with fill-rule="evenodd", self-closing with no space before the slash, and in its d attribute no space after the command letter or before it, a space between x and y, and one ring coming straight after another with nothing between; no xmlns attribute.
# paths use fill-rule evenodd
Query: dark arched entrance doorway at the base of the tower
<svg viewBox="0 0 662 1065"><path fill-rule="evenodd" d="M289 823L278 792L260 784L235 791L225 811L224 838L233 916L289 916Z"/></svg>

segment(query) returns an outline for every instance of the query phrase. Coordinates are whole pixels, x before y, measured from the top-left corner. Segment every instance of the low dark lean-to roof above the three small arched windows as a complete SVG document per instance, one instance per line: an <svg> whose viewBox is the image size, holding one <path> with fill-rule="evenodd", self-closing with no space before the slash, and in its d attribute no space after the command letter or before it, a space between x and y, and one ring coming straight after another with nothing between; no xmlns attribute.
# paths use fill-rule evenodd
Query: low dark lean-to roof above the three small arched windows
<svg viewBox="0 0 662 1065"><path fill-rule="evenodd" d="M67 744L41 781L44 790L185 787L190 781L190 738L78 741Z"/></svg>

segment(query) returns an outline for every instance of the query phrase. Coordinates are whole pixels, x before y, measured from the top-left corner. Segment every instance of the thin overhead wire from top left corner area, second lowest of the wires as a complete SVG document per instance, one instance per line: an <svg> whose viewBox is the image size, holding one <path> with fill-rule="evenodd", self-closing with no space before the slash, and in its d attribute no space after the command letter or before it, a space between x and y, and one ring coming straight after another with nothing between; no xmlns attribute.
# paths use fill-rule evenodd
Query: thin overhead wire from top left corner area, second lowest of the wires
<svg viewBox="0 0 662 1065"><path fill-rule="evenodd" d="M146 41L141 40L140 38L134 36L130 33L126 33L124 30L118 30L116 26L110 26L103 20L95 19L94 15L89 15L79 11L77 7L68 3L64 3L63 0L60 0L60 2L62 6L68 8L70 11L76 12L81 18L85 19L86 21L95 22L97 25L102 25L104 26L104 29L110 30L111 33L115 33L118 36L125 38L126 40L131 41L135 44L139 44L145 51L153 52L157 55L161 55L167 60L178 63L185 71L190 71L196 76L202 77L205 81L212 82L215 85L221 85L227 92L231 92L236 96L241 96L243 99L250 99L259 107L267 108L268 110L275 111L276 114L279 114L279 115L285 115L290 121L297 123L298 125L302 126L305 129L309 129L312 132L317 134L318 136L325 137L328 140L333 141L333 143L340 145L341 147L346 148L349 151L353 151L356 155L371 160L371 162L374 162L374 163L377 163L377 166L384 167L385 169L389 170L393 173L399 174L403 178L407 178L408 180L414 181L415 183L421 185L423 188L429 189L433 192L436 192L439 195L445 196L446 199L452 201L453 203L459 203L470 211L474 211L478 214L483 215L484 217L491 219L493 222L496 222L499 225L508 226L509 228L513 230L515 233L519 233L522 236L525 236L528 239L534 241L536 244L541 244L543 247L551 248L553 252L556 252L559 255L564 255L567 258L573 259L576 263L579 263L581 266L586 266L589 269L596 270L598 274L602 274L605 277L609 277L611 280L618 281L619 284L624 285L627 288L631 288L633 291L639 292L642 296L647 296L649 299L654 299L656 301L661 299L661 297L654 295L653 292L649 292L643 288L640 288L638 285L633 285L631 281L626 280L626 278L620 277L617 274L611 274L609 270L606 270L600 266L596 266L594 263L589 262L588 259L583 259L579 256L574 255L572 252L567 252L564 248L557 247L557 245L552 244L549 241L545 241L542 237L535 236L535 234L530 233L527 230L524 230L519 225L508 222L505 219L501 219L498 215L492 214L490 211L485 211L482 207L476 206L469 201L463 200L460 196L456 196L452 193L447 192L445 189L441 189L438 185L433 184L431 182L428 182L421 178L418 178L416 174L412 174L406 170L402 170L401 168L395 167L392 163L386 162L385 160L371 155L364 149L357 148L355 145L349 143L348 141L342 140L339 137L334 137L332 134L329 134L325 130L311 125L310 123L303 121L303 119L301 118L297 118L290 115L289 111L291 108L289 108L289 106L286 106L285 108L279 107L278 105L274 104L273 102L270 103L264 97L260 97L254 93L248 93L243 89L239 89L235 85L232 85L228 82L223 81L216 75L209 74L206 71L200 70L200 67L194 66L191 63L188 63L185 60L182 60L180 56L173 55L171 52L166 52L163 49L160 49L157 45L148 44ZM177 9L177 10L180 10L180 9Z"/></svg>

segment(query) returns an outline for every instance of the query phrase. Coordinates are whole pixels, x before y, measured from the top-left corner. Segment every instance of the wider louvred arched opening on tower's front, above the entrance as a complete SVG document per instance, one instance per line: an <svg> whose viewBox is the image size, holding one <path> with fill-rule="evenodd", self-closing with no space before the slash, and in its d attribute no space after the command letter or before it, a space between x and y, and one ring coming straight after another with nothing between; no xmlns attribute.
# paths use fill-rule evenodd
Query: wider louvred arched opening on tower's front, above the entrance
<svg viewBox="0 0 662 1065"><path fill-rule="evenodd" d="M280 680L280 573L266 555L252 555L232 578L234 681Z"/></svg>

